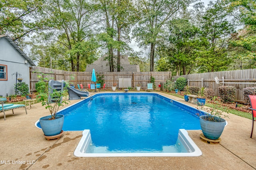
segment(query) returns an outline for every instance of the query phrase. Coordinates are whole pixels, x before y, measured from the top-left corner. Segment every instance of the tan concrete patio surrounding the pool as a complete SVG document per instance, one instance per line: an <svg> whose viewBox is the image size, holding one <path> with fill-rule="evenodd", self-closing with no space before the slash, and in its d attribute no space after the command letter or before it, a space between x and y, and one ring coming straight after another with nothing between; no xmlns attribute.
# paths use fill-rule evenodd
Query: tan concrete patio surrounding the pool
<svg viewBox="0 0 256 170"><path fill-rule="evenodd" d="M184 102L184 100L160 93ZM80 100L71 100L74 104ZM219 144L206 143L200 139L202 131L188 131L189 136L202 151L198 157L102 157L86 158L74 156L74 150L82 137L82 131L68 131L60 139L47 141L41 129L34 123L48 110L35 104L26 115L24 108L0 113L0 169L98 169L98 170L250 170L256 169L256 130L250 138L252 120L230 114L228 125ZM190 104L190 106L196 106Z"/></svg>

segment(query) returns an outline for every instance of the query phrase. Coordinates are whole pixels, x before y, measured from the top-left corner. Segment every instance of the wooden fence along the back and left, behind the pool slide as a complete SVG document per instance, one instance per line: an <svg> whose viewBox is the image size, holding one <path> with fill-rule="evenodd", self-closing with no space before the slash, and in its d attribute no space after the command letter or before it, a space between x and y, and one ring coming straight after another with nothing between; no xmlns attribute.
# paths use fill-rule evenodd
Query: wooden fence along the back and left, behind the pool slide
<svg viewBox="0 0 256 170"><path fill-rule="evenodd" d="M36 91L36 82L39 81L37 77L38 72L42 72L44 77L52 78L53 80L66 80L70 84L74 84L77 88L77 84L83 84L84 87L88 88L88 84L94 83L91 81L92 72L74 72L56 70L44 67L33 66L30 68L30 91ZM96 75L104 75L104 81L106 88L110 88L114 83L118 86L119 78L131 78L132 87L136 87L140 84L142 88L146 88L147 83L150 83L150 77L155 78L155 85L158 86L160 82L170 80L172 72L98 72L95 70Z"/></svg>

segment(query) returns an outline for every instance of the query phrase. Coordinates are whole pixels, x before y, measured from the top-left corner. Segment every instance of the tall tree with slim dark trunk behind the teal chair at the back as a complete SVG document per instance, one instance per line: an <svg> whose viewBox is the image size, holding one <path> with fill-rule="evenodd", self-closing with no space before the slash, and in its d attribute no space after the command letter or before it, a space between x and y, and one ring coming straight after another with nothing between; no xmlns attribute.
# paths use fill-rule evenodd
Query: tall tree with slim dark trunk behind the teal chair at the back
<svg viewBox="0 0 256 170"><path fill-rule="evenodd" d="M140 0L141 20L133 35L140 47L150 45L150 71L154 71L155 48L165 25L182 6L188 6L192 0Z"/></svg>

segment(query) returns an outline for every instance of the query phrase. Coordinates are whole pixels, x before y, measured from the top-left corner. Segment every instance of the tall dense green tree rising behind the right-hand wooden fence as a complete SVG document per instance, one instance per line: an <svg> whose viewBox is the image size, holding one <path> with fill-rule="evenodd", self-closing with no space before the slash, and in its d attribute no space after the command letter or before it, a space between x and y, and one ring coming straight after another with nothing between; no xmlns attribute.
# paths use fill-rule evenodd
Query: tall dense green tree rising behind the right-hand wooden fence
<svg viewBox="0 0 256 170"><path fill-rule="evenodd" d="M227 12L217 1L210 2L202 18L202 39L198 66L200 72L222 71L231 63L227 52L230 35L234 33L234 25L227 19Z"/></svg>

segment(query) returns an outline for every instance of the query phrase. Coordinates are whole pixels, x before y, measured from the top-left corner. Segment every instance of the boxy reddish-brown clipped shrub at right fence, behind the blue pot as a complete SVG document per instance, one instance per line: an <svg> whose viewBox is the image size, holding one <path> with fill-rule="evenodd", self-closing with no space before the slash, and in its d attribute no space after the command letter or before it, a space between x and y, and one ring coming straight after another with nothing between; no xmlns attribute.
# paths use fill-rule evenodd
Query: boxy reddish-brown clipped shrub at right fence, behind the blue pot
<svg viewBox="0 0 256 170"><path fill-rule="evenodd" d="M223 103L234 102L236 97L236 88L234 86L219 87L220 100Z"/></svg>

